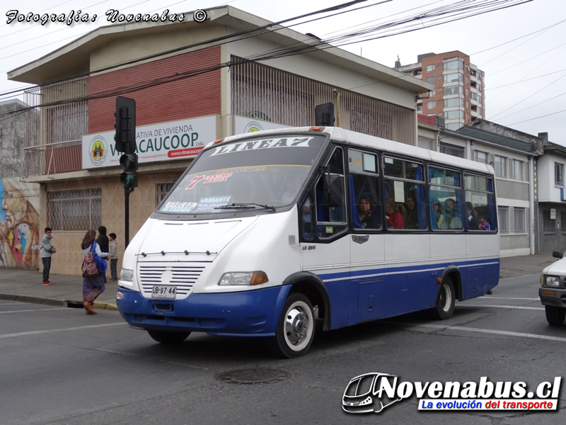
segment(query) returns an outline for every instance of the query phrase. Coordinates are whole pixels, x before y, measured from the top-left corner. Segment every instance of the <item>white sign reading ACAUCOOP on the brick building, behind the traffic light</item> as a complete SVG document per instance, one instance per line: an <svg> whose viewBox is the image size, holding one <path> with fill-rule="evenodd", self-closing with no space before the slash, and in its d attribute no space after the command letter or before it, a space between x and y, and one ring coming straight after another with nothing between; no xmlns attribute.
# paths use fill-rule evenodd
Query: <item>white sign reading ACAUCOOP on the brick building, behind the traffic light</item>
<svg viewBox="0 0 566 425"><path fill-rule="evenodd" d="M83 136L83 169L120 165L115 132ZM216 140L216 115L144 125L136 128L138 162L194 158L208 142Z"/></svg>

